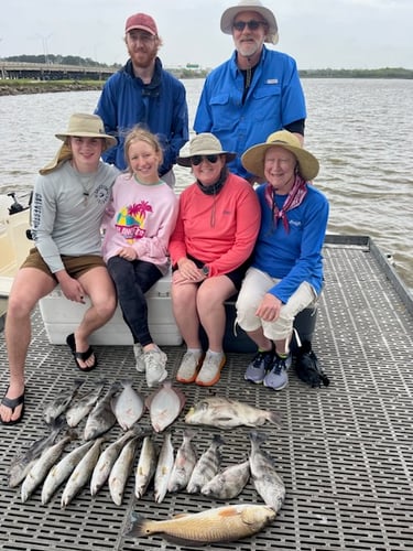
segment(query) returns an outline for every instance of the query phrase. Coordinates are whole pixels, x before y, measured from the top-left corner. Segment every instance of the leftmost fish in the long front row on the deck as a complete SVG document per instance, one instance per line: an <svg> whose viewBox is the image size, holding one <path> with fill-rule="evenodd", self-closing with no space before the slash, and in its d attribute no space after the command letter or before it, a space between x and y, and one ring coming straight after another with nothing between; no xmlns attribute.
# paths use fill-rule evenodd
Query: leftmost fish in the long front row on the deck
<svg viewBox="0 0 413 551"><path fill-rule="evenodd" d="M51 431L40 440L34 441L26 450L20 450L12 458L9 469L9 487L15 488L24 480L29 471L42 455L46 447L56 442L57 436L67 428L64 419L57 419L52 425Z"/></svg>

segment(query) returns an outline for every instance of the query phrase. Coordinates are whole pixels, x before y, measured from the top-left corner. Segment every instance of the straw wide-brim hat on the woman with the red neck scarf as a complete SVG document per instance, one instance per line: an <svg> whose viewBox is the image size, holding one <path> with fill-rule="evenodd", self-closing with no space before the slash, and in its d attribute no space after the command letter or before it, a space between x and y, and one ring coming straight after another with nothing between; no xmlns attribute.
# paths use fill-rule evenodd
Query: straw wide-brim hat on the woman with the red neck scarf
<svg viewBox="0 0 413 551"><path fill-rule="evenodd" d="M249 148L241 156L241 163L248 172L256 176L265 177L264 175L264 158L265 152L279 145L280 148L291 151L297 160L298 173L305 181L316 177L319 171L319 163L317 159L301 147L300 140L296 136L287 130L279 130L270 134L265 143L259 143Z"/></svg>

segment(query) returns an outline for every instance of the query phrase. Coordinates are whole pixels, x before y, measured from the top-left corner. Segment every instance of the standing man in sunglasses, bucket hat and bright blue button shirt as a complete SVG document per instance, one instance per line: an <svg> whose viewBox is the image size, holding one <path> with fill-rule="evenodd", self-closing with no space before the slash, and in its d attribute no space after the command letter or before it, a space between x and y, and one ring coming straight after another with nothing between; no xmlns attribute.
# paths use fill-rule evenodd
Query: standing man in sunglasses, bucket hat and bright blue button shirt
<svg viewBox="0 0 413 551"><path fill-rule="evenodd" d="M236 151L231 172L253 183L257 177L242 166L241 154L281 129L303 143L304 93L295 61L264 46L276 44L279 32L274 14L259 0L241 0L225 10L220 28L232 35L236 50L208 75L194 129L214 133L226 151Z"/></svg>

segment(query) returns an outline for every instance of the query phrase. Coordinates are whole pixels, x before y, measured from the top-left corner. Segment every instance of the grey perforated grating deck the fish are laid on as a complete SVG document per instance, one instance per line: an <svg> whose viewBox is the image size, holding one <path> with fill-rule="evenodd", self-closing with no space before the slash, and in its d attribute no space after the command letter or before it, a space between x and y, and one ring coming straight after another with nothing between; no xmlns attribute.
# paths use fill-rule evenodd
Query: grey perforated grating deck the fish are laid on
<svg viewBox="0 0 413 551"><path fill-rule="evenodd" d="M313 347L329 387L312 389L292 372L281 392L243 380L249 355L228 354L214 390L256 407L282 413L281 429L265 425L263 447L276 463L286 499L274 522L253 538L204 545L220 550L413 550L413 302L387 259L369 238L329 236L325 246L326 282L320 298ZM8 471L18 450L46 434L42 410L79 377L66 346L48 344L39 311L28 358L25 422L0 425L0 549L116 550L177 549L161 537L124 537L132 510L151 519L196 512L222 505L204 496L167 494L162 504L150 487L133 496L131 475L123 504L116 506L105 486L96 497L85 488L66 509L61 494L43 506L37 490L25 504L20 488L8 487ZM177 369L183 346L164 347L169 369ZM7 386L4 337L0 335L1 388ZM149 390L134 370L131 347L97 348L100 367L85 375L109 381L133 377L134 388ZM87 386L86 382L86 386ZM207 392L182 386L187 408ZM173 425L175 449L186 426L184 412ZM149 426L149 415L141 420ZM80 425L80 434L81 434ZM222 466L249 453L248 428L230 432L199 428L194 444L200 454L221 432ZM112 430L115 440L120 434ZM162 435L156 436L162 442ZM229 503L260 503L248 483ZM192 549L192 548L185 548Z"/></svg>

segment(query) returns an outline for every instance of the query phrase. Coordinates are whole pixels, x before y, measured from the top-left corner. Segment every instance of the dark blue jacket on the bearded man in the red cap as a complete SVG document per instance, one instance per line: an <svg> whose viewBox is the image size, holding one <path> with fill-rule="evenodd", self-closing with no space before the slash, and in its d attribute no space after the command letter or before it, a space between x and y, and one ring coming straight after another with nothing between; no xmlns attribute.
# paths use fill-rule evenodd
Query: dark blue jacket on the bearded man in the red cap
<svg viewBox="0 0 413 551"><path fill-rule="evenodd" d="M105 84L95 114L102 119L107 133L118 139L118 145L106 151L102 158L120 170L127 168L123 152L126 134L138 123L155 133L163 147L161 176L175 164L180 149L189 138L185 87L162 68L159 57L149 85L134 76L129 60Z"/></svg>

